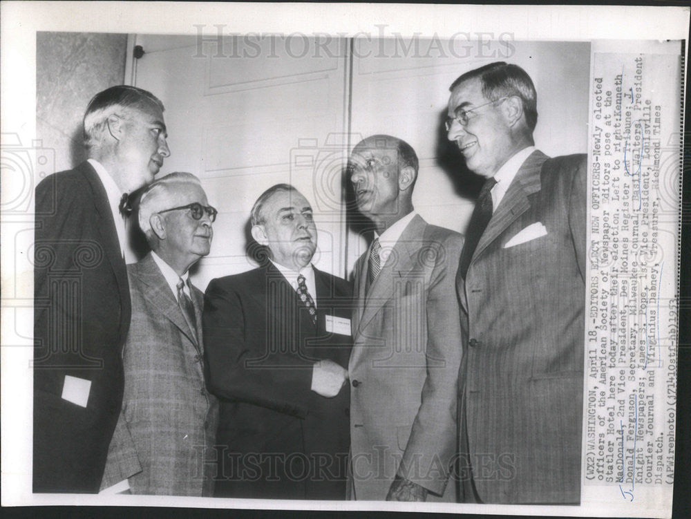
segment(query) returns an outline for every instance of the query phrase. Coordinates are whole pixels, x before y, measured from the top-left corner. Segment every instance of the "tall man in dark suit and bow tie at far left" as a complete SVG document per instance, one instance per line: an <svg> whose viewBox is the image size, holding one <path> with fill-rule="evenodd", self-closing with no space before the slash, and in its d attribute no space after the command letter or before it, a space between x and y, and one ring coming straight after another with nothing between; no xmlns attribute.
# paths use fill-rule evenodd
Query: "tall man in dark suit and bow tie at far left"
<svg viewBox="0 0 691 519"><path fill-rule="evenodd" d="M126 195L170 155L163 110L134 86L98 93L84 115L88 160L36 187L35 492L99 489L130 322Z"/></svg>

